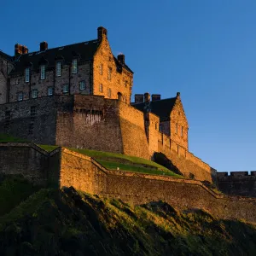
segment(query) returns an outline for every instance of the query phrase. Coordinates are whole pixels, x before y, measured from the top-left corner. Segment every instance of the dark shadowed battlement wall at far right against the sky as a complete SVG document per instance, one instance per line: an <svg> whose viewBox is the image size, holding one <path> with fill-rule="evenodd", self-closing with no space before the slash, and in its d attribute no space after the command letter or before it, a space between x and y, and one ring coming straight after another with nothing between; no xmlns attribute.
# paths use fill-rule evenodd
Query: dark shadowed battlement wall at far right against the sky
<svg viewBox="0 0 256 256"><path fill-rule="evenodd" d="M227 195L256 197L256 171L218 172L218 189Z"/></svg>

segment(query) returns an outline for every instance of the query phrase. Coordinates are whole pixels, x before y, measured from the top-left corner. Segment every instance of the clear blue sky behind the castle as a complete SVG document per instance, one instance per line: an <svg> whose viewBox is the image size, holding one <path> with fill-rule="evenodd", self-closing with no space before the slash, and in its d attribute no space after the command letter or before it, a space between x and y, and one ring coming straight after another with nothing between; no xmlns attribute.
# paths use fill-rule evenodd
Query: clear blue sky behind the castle
<svg viewBox="0 0 256 256"><path fill-rule="evenodd" d="M190 152L218 172L256 170L255 0L1 0L0 12L9 55L16 43L53 48L106 27L134 72L133 94L181 93Z"/></svg>

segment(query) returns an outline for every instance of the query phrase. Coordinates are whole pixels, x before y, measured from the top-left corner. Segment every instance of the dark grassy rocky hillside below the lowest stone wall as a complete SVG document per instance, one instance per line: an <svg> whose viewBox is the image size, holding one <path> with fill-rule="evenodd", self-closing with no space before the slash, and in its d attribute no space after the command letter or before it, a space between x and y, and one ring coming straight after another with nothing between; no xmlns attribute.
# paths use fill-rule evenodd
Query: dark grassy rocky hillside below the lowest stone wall
<svg viewBox="0 0 256 256"><path fill-rule="evenodd" d="M8 183L24 196L4 189ZM3 177L0 255L255 255L253 224L178 212L163 201L131 206L73 188L33 189ZM30 194L30 196L27 196ZM11 206L11 207L10 207Z"/></svg>

